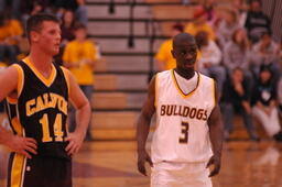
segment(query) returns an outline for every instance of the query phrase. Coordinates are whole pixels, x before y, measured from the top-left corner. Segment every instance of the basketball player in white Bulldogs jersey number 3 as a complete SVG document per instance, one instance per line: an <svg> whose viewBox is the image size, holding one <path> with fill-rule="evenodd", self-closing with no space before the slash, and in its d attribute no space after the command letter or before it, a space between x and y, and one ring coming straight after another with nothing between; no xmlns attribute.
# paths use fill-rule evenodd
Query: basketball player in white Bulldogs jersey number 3
<svg viewBox="0 0 282 187"><path fill-rule="evenodd" d="M172 54L176 68L152 79L138 120L138 169L147 175L144 163L151 165L151 187L210 187L210 177L220 169L223 148L215 81L194 70L197 45L191 34L173 38ZM145 142L154 112L151 160Z"/></svg>

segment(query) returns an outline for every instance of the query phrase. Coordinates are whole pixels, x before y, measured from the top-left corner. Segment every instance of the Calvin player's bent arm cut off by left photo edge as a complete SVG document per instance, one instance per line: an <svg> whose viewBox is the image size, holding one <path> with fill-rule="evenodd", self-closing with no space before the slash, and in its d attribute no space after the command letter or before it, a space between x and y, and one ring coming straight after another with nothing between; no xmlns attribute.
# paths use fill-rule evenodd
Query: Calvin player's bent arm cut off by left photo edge
<svg viewBox="0 0 282 187"><path fill-rule="evenodd" d="M10 66L0 73L0 101L11 95L17 95L18 70ZM31 154L36 154L36 141L31 138L22 138L8 132L0 127L0 144L8 146L11 151L23 154L31 158Z"/></svg>

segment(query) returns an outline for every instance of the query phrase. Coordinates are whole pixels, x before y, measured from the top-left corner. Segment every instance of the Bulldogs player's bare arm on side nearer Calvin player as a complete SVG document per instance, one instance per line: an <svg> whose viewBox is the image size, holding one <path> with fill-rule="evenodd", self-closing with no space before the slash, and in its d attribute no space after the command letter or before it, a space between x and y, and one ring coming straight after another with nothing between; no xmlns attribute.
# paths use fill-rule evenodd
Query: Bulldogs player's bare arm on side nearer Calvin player
<svg viewBox="0 0 282 187"><path fill-rule="evenodd" d="M150 131L151 118L155 112L154 96L155 96L155 77L152 78L149 85L148 98L144 101L141 114L137 122L137 143L138 143L138 170L147 176L145 162L151 166L153 163L150 155L145 151L145 142Z"/></svg>

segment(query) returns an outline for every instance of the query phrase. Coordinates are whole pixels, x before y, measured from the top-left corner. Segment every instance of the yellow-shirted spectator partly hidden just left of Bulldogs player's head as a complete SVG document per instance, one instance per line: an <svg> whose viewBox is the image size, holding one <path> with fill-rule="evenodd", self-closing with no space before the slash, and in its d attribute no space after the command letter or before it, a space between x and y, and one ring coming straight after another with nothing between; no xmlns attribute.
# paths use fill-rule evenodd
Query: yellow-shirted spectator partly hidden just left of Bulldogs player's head
<svg viewBox="0 0 282 187"><path fill-rule="evenodd" d="M176 67L176 61L172 56L172 38L183 32L182 24L174 24L171 29L171 38L164 41L155 54L154 58L160 70L173 69Z"/></svg>

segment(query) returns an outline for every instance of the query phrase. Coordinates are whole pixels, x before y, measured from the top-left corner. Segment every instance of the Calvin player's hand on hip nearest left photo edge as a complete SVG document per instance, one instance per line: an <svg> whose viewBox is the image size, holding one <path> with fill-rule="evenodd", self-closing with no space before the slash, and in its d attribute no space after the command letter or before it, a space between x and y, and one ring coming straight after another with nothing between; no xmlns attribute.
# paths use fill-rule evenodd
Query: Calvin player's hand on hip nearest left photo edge
<svg viewBox="0 0 282 187"><path fill-rule="evenodd" d="M31 158L31 154L37 154L37 143L34 139L22 138L19 135L12 135L11 139L7 142L7 146L12 151L23 154L28 158Z"/></svg>

